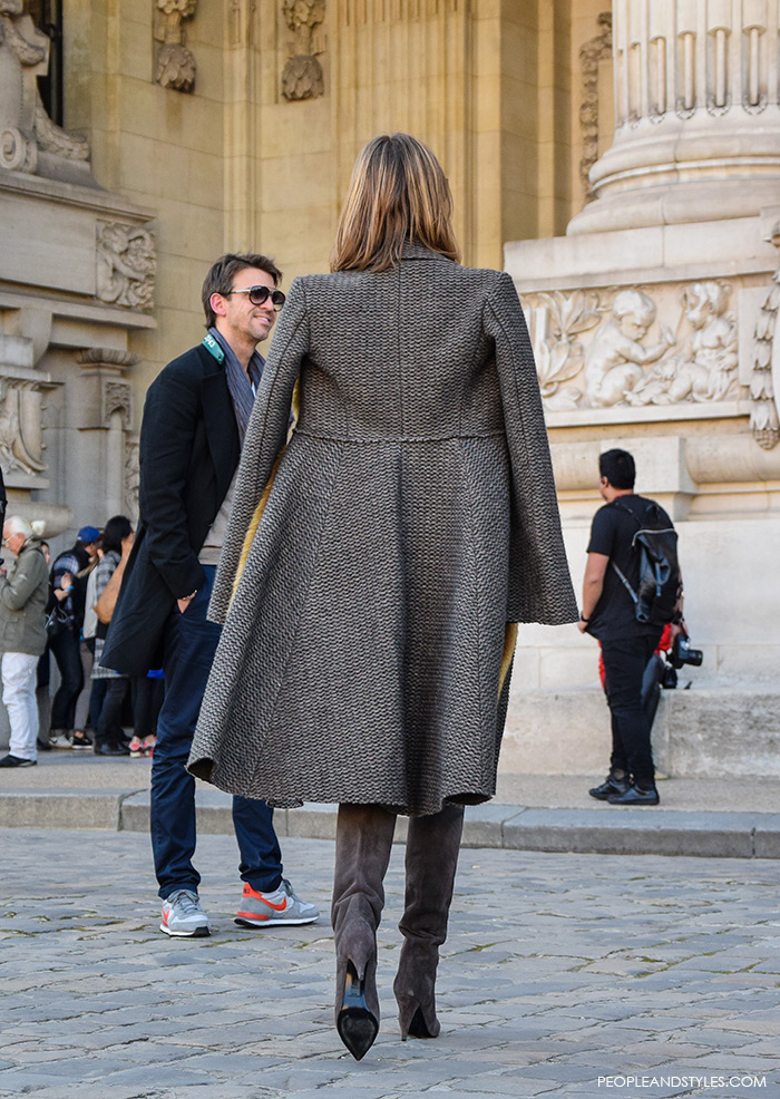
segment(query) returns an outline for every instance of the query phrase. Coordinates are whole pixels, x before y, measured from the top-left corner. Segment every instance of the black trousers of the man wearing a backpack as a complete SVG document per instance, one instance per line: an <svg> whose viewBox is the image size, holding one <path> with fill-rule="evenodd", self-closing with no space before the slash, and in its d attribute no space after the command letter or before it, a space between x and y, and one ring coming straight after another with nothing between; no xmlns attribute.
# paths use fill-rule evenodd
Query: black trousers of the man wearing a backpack
<svg viewBox="0 0 780 1099"><path fill-rule="evenodd" d="M642 681L660 640L659 630L644 638L602 641L604 687L612 713L611 768L631 774L634 781L643 787L654 785L655 768L650 743L651 722L643 707Z"/></svg>

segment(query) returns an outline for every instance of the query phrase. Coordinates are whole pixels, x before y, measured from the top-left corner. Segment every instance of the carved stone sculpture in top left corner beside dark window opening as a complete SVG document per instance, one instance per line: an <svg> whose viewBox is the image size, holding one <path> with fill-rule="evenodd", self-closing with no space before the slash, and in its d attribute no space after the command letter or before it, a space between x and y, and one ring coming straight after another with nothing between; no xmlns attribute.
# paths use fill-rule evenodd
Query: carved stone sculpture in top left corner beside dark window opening
<svg viewBox="0 0 780 1099"><path fill-rule="evenodd" d="M46 114L37 78L49 64L49 39L22 10L0 0L0 167L35 173L38 153L87 161L86 140L60 129Z"/></svg>

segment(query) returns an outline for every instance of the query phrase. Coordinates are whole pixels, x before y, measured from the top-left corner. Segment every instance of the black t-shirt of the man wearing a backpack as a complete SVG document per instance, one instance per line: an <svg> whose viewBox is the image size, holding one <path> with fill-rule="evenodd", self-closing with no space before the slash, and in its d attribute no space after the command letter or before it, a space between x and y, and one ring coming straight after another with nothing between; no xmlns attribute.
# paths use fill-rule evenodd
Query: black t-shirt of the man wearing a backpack
<svg viewBox="0 0 780 1099"><path fill-rule="evenodd" d="M635 496L632 493L630 496L620 496L617 500L605 504L593 516L587 552L603 553L610 558L604 573L604 589L587 626L587 632L599 641L617 641L620 638L643 638L660 633L660 626L636 621L634 602L612 567L614 561L636 591L640 582L640 553L638 550L634 550L631 542L640 525L644 526L645 508L652 503L644 496ZM657 519L663 526L672 526L672 521L664 509L657 504L655 506L659 508Z"/></svg>

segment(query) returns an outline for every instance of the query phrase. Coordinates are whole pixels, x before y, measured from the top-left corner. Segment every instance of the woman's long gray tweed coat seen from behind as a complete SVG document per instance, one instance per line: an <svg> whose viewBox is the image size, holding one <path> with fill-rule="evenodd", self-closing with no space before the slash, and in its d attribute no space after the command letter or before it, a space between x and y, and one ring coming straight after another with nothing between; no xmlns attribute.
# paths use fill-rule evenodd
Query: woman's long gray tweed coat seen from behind
<svg viewBox="0 0 780 1099"><path fill-rule="evenodd" d="M293 282L209 614L193 774L275 806L493 796L507 623L578 614L509 275L412 245Z"/></svg>

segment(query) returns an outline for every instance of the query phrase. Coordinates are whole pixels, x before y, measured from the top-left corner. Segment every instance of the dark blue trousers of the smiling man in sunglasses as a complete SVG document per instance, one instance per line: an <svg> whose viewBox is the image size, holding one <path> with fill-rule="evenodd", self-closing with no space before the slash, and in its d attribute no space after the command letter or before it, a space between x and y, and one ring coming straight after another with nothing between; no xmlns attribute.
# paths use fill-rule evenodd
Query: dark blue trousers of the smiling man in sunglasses
<svg viewBox="0 0 780 1099"><path fill-rule="evenodd" d="M184 614L174 606L165 624L165 701L152 757L152 849L165 899L176 889L197 892L195 779L185 767L221 628L206 620L215 568ZM253 889L272 892L282 881L282 853L265 801L233 798L233 826L241 852L240 873Z"/></svg>

